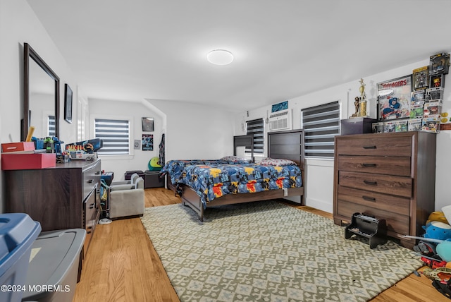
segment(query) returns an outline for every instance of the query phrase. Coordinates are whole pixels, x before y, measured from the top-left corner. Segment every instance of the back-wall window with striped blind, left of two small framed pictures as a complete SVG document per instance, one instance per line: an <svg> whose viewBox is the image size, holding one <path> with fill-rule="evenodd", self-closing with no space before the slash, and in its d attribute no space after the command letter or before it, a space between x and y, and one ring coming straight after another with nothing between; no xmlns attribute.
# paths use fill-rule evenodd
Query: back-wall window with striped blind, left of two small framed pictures
<svg viewBox="0 0 451 302"><path fill-rule="evenodd" d="M97 154L130 154L130 121L119 119L94 119L94 136L104 141Z"/></svg>

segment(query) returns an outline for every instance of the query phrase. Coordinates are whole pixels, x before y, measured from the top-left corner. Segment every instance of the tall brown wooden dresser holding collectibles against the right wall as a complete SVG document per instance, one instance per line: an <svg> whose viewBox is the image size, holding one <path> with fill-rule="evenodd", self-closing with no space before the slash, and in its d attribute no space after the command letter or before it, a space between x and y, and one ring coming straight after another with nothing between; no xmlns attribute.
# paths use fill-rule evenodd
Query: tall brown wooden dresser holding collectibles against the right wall
<svg viewBox="0 0 451 302"><path fill-rule="evenodd" d="M412 248L435 208L435 133L335 137L333 219L355 212L385 219L387 234Z"/></svg>

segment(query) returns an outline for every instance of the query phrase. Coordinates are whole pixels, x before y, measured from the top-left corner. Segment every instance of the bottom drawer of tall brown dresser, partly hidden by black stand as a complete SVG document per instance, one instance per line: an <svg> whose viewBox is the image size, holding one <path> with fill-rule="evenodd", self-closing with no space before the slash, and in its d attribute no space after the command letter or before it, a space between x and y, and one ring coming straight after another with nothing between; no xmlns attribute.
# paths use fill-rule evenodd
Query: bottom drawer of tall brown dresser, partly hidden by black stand
<svg viewBox="0 0 451 302"><path fill-rule="evenodd" d="M385 219L387 223L387 229L394 231L397 234L410 234L409 223L410 218L406 215L399 215L394 212L387 212L384 210L376 209L375 207L368 207L366 205L359 205L357 203L348 203L347 201L341 201L338 203L337 214L341 217L349 217L345 220L351 221L354 213L362 213L377 219Z"/></svg>

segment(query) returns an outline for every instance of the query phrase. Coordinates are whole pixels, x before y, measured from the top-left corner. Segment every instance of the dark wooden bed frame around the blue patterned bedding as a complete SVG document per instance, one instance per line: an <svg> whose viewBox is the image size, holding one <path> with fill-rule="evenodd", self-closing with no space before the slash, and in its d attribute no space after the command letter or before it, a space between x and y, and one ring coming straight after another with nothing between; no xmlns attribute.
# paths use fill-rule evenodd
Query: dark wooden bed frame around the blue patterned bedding
<svg viewBox="0 0 451 302"><path fill-rule="evenodd" d="M290 159L301 168L302 170L302 187L301 188L288 188L280 190L268 190L257 193L246 193L246 194L230 194L224 195L220 198L215 198L206 204L207 207L214 207L217 205L232 205L235 203L249 203L252 201L259 200L270 200L277 198L284 198L290 196L301 196L301 205L303 204L302 195L304 195L304 133L302 130L293 131L280 131L280 132L270 132L268 133L268 157L278 158L278 159ZM245 146L252 147L252 158L253 158L253 147L254 140L252 135L239 135L233 137L233 146L235 148L234 155L236 153L236 147ZM171 183L171 178L168 178L168 187L173 190L175 188L169 186ZM204 207L202 206L202 201L199 195L192 190L189 186L183 186L182 194L183 205L191 207L194 212L197 212L199 219L203 221L204 219Z"/></svg>

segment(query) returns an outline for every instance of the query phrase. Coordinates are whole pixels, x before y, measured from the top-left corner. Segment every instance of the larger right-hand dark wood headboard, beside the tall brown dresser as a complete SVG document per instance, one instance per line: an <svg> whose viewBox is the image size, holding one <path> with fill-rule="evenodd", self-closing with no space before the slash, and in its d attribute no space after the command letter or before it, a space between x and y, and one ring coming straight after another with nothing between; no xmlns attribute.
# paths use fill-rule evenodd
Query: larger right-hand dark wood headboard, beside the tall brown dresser
<svg viewBox="0 0 451 302"><path fill-rule="evenodd" d="M268 132L268 157L290 159L304 169L304 131Z"/></svg>

